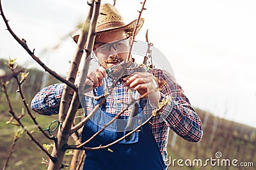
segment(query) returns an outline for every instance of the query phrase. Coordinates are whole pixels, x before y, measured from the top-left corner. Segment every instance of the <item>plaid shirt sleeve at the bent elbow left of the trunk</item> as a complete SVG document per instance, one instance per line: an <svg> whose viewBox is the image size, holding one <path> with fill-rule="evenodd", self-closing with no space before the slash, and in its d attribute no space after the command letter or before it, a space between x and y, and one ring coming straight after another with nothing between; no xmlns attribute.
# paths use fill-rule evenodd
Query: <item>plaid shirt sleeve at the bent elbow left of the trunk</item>
<svg viewBox="0 0 256 170"><path fill-rule="evenodd" d="M40 90L31 101L31 109L40 115L56 115L59 112L64 84L49 85Z"/></svg>

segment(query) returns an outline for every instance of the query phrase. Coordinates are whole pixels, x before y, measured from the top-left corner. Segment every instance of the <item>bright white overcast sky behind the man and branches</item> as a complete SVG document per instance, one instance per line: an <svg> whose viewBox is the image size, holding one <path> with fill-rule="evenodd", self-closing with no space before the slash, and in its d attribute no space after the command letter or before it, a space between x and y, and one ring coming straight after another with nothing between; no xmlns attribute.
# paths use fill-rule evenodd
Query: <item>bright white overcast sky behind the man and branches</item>
<svg viewBox="0 0 256 170"><path fill-rule="evenodd" d="M3 0L2 5L17 36L65 75L76 50L71 36L86 17L86 1ZM193 106L256 127L255 6L250 0L147 0L141 16L145 24L136 39L145 41L148 29L149 41L164 54ZM116 8L128 24L138 17L141 4L116 0ZM39 67L5 29L1 18L0 57Z"/></svg>

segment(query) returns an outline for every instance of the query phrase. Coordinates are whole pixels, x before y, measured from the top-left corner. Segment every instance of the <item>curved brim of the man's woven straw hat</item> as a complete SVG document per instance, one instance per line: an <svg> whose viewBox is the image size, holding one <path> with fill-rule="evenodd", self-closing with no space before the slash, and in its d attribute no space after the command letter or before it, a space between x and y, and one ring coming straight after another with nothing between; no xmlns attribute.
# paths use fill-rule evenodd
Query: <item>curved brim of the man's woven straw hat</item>
<svg viewBox="0 0 256 170"><path fill-rule="evenodd" d="M138 34L138 32L140 31L144 21L145 21L144 18L140 18L140 21L138 23L138 28L137 28L137 30L135 32L135 35ZM98 31L98 32L96 32L96 36L99 36L99 35L102 35L102 34L106 34L107 32L113 32L113 31L119 31L119 30L125 30L127 32L131 32L132 33L134 31L135 27L136 27L136 22L137 22L137 20L134 20L131 23L129 23L127 25L124 25L122 27L110 27L110 28ZM74 41L76 43L78 41L78 38L79 38L79 34L73 37L73 39L74 39Z"/></svg>

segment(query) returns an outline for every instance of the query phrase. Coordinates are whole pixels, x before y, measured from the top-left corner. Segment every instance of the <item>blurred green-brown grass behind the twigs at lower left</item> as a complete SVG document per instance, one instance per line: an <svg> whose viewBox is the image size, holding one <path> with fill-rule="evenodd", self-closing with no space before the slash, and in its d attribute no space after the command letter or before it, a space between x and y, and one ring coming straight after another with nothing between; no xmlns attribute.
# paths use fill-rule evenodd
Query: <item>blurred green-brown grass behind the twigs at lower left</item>
<svg viewBox="0 0 256 170"><path fill-rule="evenodd" d="M12 96L10 96L12 97ZM22 101L13 101L12 102L13 110L20 115L22 108ZM1 98L0 104L0 129L1 129L1 142L0 142L0 164L1 167L4 166L4 162L6 160L6 156L10 152L10 148L12 146L13 137L15 135L14 129L15 125L6 124L8 120L10 120L10 113L8 113L8 103ZM43 124L42 127L48 127L48 123L52 122L52 120L58 119L58 116L54 117L45 117L41 115L37 115L35 113L36 120L38 124ZM15 121L14 121L15 122ZM46 139L42 136L41 132L37 130L35 125L33 124L31 118L28 114L24 118L22 118L22 123L26 125L29 131L34 131L33 136L40 141L40 143L52 143L49 139ZM27 134L22 134L18 139L14 152L9 160L8 169L46 169L43 164L41 164L42 158L47 160L47 155L36 146L33 141L30 141Z"/></svg>

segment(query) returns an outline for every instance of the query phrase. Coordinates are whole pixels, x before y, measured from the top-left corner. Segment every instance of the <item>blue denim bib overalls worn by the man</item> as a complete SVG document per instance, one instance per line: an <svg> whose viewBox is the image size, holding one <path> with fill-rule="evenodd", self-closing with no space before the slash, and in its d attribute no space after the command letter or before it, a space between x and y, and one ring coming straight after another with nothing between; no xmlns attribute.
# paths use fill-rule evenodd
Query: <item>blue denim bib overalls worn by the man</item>
<svg viewBox="0 0 256 170"><path fill-rule="evenodd" d="M103 94L103 88L98 87L97 95ZM140 104L141 105L141 104ZM103 109L102 109L103 110ZM106 113L98 110L97 113L84 125L82 141L89 139L95 132L99 131L105 124L107 124L114 114ZM145 114L142 113L142 107L139 108L139 114L136 118L136 125L138 127L138 120L145 120ZM100 145L108 145L116 139L122 138L125 134L125 124L127 116L120 116L113 124L109 125L97 137L92 139L86 146L95 147ZM100 150L86 150L86 157L84 159L84 170L163 170L166 169L163 157L159 151L156 140L152 134L148 124L143 125L139 132L132 134L131 140L123 139L115 145L109 146L113 151L108 149Z"/></svg>

